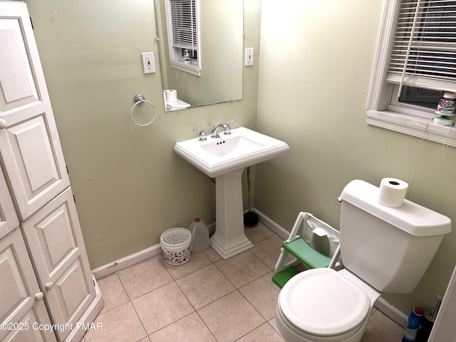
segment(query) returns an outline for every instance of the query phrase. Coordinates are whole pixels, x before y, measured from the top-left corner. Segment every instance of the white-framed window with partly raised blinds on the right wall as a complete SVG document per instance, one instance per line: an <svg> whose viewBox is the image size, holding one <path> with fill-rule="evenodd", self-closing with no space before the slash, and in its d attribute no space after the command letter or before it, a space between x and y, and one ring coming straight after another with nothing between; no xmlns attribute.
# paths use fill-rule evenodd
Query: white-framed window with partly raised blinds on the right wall
<svg viewBox="0 0 456 342"><path fill-rule="evenodd" d="M456 146L433 121L442 90L456 92L456 1L386 0L367 123Z"/></svg>

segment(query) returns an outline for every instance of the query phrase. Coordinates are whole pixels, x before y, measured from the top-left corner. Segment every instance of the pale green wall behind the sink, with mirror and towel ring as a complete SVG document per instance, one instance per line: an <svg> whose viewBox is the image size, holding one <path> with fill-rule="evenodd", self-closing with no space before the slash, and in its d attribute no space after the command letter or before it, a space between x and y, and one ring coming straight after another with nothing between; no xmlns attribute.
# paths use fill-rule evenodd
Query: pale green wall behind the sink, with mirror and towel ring
<svg viewBox="0 0 456 342"><path fill-rule="evenodd" d="M259 66L244 72L243 100L165 113L160 72L144 75L140 58L158 56L152 0L26 3L90 266L159 244L163 231L195 217L214 222L214 183L172 147L196 137L193 128L234 118L232 127L256 128ZM244 44L257 51L259 14L260 0L246 1ZM138 93L157 108L145 128L130 121ZM145 122L150 107L139 107L135 117Z"/></svg>

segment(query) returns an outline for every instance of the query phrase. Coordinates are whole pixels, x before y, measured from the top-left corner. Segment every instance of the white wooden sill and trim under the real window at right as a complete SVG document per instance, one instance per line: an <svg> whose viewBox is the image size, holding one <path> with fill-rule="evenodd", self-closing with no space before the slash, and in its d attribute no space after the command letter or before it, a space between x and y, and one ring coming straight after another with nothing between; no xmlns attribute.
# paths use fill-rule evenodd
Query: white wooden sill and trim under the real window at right
<svg viewBox="0 0 456 342"><path fill-rule="evenodd" d="M387 110L368 110L367 114L366 122L369 125L456 147L455 125L451 127L435 125L432 119Z"/></svg>

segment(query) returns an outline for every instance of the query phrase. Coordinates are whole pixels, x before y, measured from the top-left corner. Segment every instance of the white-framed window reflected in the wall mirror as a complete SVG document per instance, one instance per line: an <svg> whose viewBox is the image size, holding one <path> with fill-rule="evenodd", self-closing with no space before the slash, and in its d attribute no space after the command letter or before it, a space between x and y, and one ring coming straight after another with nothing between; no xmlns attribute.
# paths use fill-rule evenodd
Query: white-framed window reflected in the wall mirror
<svg viewBox="0 0 456 342"><path fill-rule="evenodd" d="M172 68L201 76L198 13L197 0L166 1L170 64Z"/></svg>

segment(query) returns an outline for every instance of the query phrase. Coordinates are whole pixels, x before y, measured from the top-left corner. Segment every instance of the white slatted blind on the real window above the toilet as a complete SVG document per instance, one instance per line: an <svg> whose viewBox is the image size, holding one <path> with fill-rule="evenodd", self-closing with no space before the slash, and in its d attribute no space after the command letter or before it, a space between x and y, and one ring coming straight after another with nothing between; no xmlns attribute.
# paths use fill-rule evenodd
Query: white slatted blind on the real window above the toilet
<svg viewBox="0 0 456 342"><path fill-rule="evenodd" d="M400 1L386 81L456 91L456 1Z"/></svg>

